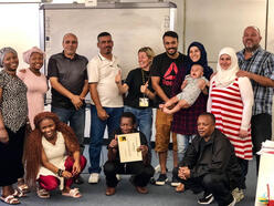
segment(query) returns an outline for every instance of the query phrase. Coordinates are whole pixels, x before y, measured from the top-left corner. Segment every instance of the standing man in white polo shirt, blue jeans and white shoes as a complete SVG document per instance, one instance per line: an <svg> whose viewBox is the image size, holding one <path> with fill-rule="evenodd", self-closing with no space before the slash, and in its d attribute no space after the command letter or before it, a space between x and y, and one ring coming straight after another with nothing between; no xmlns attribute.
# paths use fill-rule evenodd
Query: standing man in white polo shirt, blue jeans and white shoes
<svg viewBox="0 0 274 206"><path fill-rule="evenodd" d="M108 32L97 37L99 53L87 64L89 92L92 96L89 162L91 174L88 183L99 181L99 156L107 125L108 135L119 126L119 119L124 110L123 96L115 83L115 75L120 71L118 60L113 55L113 40Z"/></svg>

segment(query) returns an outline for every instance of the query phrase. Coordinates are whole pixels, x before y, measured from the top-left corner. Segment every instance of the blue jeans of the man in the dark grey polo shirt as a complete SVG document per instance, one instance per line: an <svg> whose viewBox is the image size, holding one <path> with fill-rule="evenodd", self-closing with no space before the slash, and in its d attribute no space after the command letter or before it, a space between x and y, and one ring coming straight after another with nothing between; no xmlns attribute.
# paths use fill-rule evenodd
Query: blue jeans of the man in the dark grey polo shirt
<svg viewBox="0 0 274 206"><path fill-rule="evenodd" d="M59 119L65 124L70 123L70 126L75 132L81 151L84 150L84 132L85 132L85 106L78 110L68 110L62 107L52 106L51 111L55 113Z"/></svg>

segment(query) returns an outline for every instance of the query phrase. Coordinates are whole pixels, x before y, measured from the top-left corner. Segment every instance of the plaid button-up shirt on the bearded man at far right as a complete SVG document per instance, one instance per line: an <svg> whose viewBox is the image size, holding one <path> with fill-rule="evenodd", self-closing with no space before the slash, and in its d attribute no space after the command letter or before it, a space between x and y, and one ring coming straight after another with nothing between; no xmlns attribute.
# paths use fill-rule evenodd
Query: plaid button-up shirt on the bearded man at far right
<svg viewBox="0 0 274 206"><path fill-rule="evenodd" d="M263 50L260 47L249 60L244 59L244 50L238 52L236 55L241 70L274 80L274 54ZM251 80L251 83L254 92L252 114L256 115L267 113L272 115L272 99L274 89L263 86L253 80Z"/></svg>

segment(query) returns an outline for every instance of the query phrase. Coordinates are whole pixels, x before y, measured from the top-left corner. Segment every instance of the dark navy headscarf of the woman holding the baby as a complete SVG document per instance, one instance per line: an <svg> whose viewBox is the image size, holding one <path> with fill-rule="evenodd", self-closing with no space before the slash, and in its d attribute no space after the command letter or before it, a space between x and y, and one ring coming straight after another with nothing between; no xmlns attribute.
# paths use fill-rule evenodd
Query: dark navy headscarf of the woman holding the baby
<svg viewBox="0 0 274 206"><path fill-rule="evenodd" d="M197 48L200 50L200 52L201 52L201 58L200 58L200 60L198 60L197 62L193 62L193 61L190 59L190 56L189 56L190 48L192 48L192 47L197 47ZM187 71L187 73L190 73L191 66L192 66L193 64L200 64L200 65L202 65L202 68L203 68L203 75L204 75L208 80L210 80L210 76L211 76L211 74L213 73L213 70L208 65L207 51L205 51L203 44L201 44L200 42L197 42L197 41L192 42L192 43L189 45L189 48L188 48L188 56L189 56L189 63L188 63L188 71Z"/></svg>

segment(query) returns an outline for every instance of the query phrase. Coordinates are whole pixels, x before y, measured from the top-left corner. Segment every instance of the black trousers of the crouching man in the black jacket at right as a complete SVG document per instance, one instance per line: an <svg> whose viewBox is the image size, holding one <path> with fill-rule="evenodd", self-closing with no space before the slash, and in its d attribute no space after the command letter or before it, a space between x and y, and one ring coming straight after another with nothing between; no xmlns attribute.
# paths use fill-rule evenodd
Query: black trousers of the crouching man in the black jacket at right
<svg viewBox="0 0 274 206"><path fill-rule="evenodd" d="M210 173L201 177L185 181L178 177L178 168L175 168L172 173L185 184L186 189L191 189L194 194L201 193L202 190L211 193L219 206L226 206L233 200L230 182L225 174Z"/></svg>

